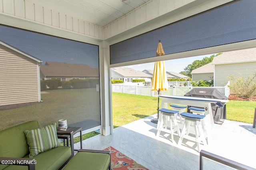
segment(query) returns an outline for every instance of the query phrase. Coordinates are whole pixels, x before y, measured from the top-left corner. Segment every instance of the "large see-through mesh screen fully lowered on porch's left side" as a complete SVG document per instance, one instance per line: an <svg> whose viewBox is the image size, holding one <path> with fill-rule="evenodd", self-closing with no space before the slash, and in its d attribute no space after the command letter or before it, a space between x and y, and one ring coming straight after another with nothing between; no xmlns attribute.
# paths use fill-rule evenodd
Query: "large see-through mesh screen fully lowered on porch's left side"
<svg viewBox="0 0 256 170"><path fill-rule="evenodd" d="M40 126L44 126L54 122L58 125L59 119L67 119L68 126L82 127L83 130L100 126L97 45L4 25L0 25L0 40L18 51L14 54L7 47L0 49L4 51L0 53L0 61L5 63L0 63L0 96L10 101L8 105L0 104L0 130L30 120L37 120ZM36 74L36 66L28 68L22 64L27 58L19 55L19 51L42 61L38 70L40 74ZM32 69L33 74L29 71ZM15 78L4 74L15 75ZM29 81L32 79L33 87L40 84L33 95L39 93L41 102L24 100L12 104L17 97L30 98L32 84Z"/></svg>

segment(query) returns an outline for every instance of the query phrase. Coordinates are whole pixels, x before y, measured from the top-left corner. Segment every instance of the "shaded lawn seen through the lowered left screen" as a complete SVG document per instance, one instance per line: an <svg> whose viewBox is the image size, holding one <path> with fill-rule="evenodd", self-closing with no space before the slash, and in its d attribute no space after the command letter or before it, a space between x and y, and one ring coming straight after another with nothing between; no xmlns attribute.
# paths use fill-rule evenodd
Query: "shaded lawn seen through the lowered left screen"
<svg viewBox="0 0 256 170"><path fill-rule="evenodd" d="M41 94L43 102L13 109L0 110L0 130L12 127L13 125L28 120L38 120L39 125L45 126L50 123L57 123L59 119L67 119L72 124L86 119L99 121L100 103L99 92L96 88L88 89L61 89L47 90ZM91 96L98 96L92 98Z"/></svg>

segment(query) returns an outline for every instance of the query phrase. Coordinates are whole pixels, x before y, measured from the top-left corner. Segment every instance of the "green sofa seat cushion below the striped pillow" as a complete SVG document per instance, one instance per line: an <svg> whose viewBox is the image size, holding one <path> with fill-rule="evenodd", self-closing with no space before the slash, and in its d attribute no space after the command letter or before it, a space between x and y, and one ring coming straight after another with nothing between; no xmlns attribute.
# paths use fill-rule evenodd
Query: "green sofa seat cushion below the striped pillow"
<svg viewBox="0 0 256 170"><path fill-rule="evenodd" d="M36 170L58 170L70 156L70 147L58 147L42 152L33 158L36 160ZM29 158L29 156L27 155L25 158ZM4 170L28 170L28 167L10 165Z"/></svg>

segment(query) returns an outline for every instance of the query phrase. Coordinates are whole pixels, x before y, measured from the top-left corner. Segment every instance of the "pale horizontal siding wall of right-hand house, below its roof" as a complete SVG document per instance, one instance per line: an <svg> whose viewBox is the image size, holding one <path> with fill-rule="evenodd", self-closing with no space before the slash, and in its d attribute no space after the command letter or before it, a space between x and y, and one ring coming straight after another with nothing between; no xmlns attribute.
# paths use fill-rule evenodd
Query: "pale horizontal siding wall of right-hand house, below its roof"
<svg viewBox="0 0 256 170"><path fill-rule="evenodd" d="M249 77L256 72L256 62L215 65L215 86L225 86L229 76ZM255 80L256 82L256 80ZM230 82L232 85L232 81ZM231 92L232 94L232 92Z"/></svg>

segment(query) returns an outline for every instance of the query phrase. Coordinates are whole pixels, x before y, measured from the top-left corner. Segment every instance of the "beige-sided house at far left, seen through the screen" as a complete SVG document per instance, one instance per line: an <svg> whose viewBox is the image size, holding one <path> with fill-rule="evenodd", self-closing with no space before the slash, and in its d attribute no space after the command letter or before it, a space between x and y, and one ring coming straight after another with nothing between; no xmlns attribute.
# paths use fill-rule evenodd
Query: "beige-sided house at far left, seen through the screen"
<svg viewBox="0 0 256 170"><path fill-rule="evenodd" d="M41 101L41 62L0 41L0 106Z"/></svg>

